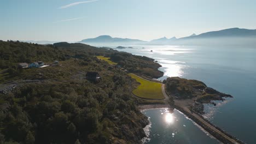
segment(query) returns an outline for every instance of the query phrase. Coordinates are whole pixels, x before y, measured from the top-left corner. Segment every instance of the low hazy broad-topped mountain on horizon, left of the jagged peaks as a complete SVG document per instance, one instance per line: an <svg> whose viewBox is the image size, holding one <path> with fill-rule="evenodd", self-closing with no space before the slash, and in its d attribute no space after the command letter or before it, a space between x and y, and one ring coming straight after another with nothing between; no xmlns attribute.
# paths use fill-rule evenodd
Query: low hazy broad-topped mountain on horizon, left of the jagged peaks
<svg viewBox="0 0 256 144"><path fill-rule="evenodd" d="M112 38L109 35L101 35L97 38L84 39L79 42L88 43L88 44L95 44L95 43L143 44L143 43L147 43L147 41L138 40L138 39Z"/></svg>

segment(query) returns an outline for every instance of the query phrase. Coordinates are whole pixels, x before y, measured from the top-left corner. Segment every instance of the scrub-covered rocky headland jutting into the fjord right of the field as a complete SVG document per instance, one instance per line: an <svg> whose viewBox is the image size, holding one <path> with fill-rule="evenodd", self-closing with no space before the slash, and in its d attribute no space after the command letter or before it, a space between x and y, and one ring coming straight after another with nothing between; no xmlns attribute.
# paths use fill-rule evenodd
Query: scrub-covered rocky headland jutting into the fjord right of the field
<svg viewBox="0 0 256 144"><path fill-rule="evenodd" d="M205 83L197 80L187 80L179 77L168 77L165 81L166 92L177 100L193 99L191 109L203 114L203 103L216 105L212 100L225 100L232 97L229 94L220 93L213 88L207 87Z"/></svg>

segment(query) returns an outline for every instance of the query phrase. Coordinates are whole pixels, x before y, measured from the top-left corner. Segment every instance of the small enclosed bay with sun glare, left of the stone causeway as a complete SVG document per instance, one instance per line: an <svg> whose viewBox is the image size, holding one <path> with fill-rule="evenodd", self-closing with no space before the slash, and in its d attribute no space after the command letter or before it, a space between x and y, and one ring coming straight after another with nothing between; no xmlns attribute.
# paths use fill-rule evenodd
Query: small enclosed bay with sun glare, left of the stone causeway
<svg viewBox="0 0 256 144"><path fill-rule="evenodd" d="M177 110L170 113L168 109L152 109L143 113L151 122L149 137L143 140L146 143L219 143Z"/></svg>

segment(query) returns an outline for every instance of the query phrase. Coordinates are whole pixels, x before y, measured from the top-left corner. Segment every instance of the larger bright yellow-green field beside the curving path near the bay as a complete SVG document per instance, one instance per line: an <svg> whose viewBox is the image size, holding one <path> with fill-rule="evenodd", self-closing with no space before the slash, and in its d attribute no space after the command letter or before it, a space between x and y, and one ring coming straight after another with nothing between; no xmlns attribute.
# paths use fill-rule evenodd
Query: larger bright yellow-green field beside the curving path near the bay
<svg viewBox="0 0 256 144"><path fill-rule="evenodd" d="M162 84L158 82L144 80L135 74L128 74L137 82L141 83L136 89L132 91L137 97L144 99L165 99L162 93Z"/></svg>

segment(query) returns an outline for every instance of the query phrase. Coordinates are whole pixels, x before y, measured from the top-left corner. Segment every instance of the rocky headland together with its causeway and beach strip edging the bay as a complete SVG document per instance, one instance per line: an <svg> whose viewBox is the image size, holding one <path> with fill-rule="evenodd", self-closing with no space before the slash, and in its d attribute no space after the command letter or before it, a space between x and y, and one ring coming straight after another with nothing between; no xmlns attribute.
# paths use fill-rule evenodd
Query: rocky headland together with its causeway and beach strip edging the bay
<svg viewBox="0 0 256 144"><path fill-rule="evenodd" d="M165 90L168 99L172 100L171 105L140 105L139 110L158 109L164 107L174 107L181 111L185 116L192 119L195 123L200 125L209 134L214 136L217 140L223 143L244 143L226 133L216 125L212 124L207 119L203 118L203 104L216 105L213 100L222 100L225 98L232 98L231 95L220 93L216 89L207 87L205 83L197 80L181 79L179 77L168 77L164 82ZM167 99L166 99L167 100Z"/></svg>

